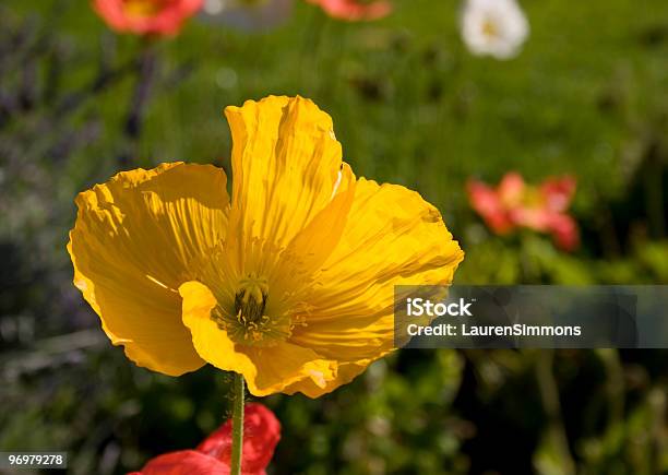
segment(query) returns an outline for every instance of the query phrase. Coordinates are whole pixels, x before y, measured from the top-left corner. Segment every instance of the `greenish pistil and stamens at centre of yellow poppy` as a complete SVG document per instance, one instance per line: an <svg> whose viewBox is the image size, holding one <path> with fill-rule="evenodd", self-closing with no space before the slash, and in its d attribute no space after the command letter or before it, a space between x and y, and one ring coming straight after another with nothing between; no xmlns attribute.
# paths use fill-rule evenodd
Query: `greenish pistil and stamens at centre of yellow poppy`
<svg viewBox="0 0 668 475"><path fill-rule="evenodd" d="M282 312L277 307L270 306L269 281L251 273L236 286L234 309L217 306L212 312L212 320L235 343L272 346L286 340L293 328L290 314Z"/></svg>

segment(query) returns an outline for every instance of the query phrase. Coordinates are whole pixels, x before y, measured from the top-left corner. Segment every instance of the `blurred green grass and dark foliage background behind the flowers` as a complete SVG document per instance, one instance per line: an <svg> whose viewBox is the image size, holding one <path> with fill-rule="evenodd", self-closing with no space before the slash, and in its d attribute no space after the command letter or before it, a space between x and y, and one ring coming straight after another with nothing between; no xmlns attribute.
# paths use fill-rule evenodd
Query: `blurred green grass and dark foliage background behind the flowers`
<svg viewBox="0 0 668 475"><path fill-rule="evenodd" d="M357 175L434 203L467 252L457 283L668 281L668 3L525 0L532 34L508 62L464 49L458 3L395 5L348 24L297 1L275 31L192 21L150 45L87 2L0 5L0 450L67 450L72 474L116 474L220 424L225 376L135 368L73 289L64 244L76 192L120 168L229 170L222 109L248 98L312 98ZM466 179L509 170L577 177L576 253L474 215ZM283 424L271 473L665 473L666 356L399 352L317 401L263 400Z"/></svg>

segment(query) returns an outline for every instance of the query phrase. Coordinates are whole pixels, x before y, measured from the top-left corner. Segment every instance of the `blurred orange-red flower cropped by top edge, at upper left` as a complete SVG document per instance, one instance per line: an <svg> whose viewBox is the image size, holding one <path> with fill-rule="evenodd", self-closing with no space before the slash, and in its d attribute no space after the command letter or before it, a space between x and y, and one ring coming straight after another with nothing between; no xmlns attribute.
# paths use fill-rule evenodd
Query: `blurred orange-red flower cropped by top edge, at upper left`
<svg viewBox="0 0 668 475"><path fill-rule="evenodd" d="M176 35L204 0L93 0L93 8L117 32Z"/></svg>

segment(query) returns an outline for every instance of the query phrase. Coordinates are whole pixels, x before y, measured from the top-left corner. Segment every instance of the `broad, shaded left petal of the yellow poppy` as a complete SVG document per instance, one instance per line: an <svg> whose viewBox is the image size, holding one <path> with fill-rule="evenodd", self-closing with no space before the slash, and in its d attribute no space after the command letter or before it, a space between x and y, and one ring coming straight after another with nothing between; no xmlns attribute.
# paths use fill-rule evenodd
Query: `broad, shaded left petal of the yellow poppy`
<svg viewBox="0 0 668 475"><path fill-rule="evenodd" d="M74 284L140 366L177 376L204 364L177 288L225 237L225 182L216 167L175 163L120 173L76 199L68 245Z"/></svg>

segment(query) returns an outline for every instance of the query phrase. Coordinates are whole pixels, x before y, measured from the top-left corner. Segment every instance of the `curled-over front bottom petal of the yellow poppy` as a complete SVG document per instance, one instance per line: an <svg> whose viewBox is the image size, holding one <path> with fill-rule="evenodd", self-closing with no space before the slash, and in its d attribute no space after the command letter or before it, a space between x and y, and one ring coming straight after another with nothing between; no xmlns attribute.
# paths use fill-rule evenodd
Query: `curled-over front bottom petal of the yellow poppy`
<svg viewBox="0 0 668 475"><path fill-rule="evenodd" d="M335 364L308 348L281 342L272 347L236 345L211 319L216 297L204 284L188 282L179 287L183 298L183 323L192 333L200 356L218 369L243 375L249 391L257 396L282 392L298 381L326 387Z"/></svg>

